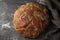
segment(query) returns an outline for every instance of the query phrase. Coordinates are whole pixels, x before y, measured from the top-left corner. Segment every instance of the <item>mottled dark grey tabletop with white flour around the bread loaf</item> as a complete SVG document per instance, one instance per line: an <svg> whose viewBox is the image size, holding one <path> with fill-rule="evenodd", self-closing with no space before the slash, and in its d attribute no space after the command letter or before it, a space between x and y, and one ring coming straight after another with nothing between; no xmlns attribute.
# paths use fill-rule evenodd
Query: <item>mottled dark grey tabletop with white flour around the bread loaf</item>
<svg viewBox="0 0 60 40"><path fill-rule="evenodd" d="M39 2L43 5L47 5L50 10L51 5L49 4L48 0L0 0L0 40L45 40L45 37L47 33L49 33L50 30L55 29L55 25L53 25L51 22L48 26L48 28L36 39L28 39L23 38L21 35L19 35L14 27L13 27L13 14L15 10L18 8L19 5L35 1ZM52 12L53 17L56 19L56 15L54 15L55 10ZM56 14L56 12L55 12ZM55 17L56 16L56 17ZM58 17L57 17L58 18ZM53 21L53 20L52 20ZM54 21L53 21L54 23ZM57 28L59 28L59 22L56 24ZM56 30L54 30L55 32Z"/></svg>

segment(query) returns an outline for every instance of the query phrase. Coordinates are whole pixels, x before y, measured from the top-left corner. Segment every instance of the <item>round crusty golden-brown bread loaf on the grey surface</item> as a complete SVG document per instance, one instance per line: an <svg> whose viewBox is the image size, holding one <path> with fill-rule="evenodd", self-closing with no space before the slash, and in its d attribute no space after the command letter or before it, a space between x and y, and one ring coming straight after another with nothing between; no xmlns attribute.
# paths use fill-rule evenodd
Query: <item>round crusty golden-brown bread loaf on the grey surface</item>
<svg viewBox="0 0 60 40"><path fill-rule="evenodd" d="M23 37L36 38L48 23L48 10L42 4L29 2L21 5L14 13L14 28Z"/></svg>

